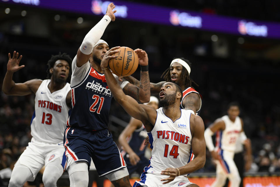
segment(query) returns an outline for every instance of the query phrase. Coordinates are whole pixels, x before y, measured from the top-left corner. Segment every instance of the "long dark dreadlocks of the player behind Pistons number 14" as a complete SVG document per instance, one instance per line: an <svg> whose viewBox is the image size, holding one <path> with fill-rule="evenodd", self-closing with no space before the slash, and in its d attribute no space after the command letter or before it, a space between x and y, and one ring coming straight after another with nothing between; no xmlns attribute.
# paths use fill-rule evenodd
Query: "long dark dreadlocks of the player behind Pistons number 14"
<svg viewBox="0 0 280 187"><path fill-rule="evenodd" d="M177 58L173 58L174 59L177 59ZM190 67L192 66L192 63L185 59L185 58L179 58L181 60L184 60ZM170 67L167 68L167 70L165 70L163 72L163 74L161 75L161 78L163 78L166 82L171 82L171 77L170 77ZM191 78L190 78L190 75L189 75L189 72L187 71L187 69L183 66L182 68L182 73L181 73L181 76L180 76L180 81L183 82L183 85L185 85L186 88L188 87L192 87L192 83L195 84L196 86L198 86L198 84L196 84Z"/></svg>

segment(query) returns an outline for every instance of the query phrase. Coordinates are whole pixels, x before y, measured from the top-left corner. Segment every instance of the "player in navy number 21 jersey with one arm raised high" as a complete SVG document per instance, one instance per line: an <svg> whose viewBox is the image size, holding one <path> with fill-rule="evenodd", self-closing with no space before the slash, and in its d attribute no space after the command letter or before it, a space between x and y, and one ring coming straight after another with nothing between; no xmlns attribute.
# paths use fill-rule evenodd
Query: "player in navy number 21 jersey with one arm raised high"
<svg viewBox="0 0 280 187"><path fill-rule="evenodd" d="M113 96L100 67L109 50L107 42L100 38L111 20L115 20L114 8L113 3L108 5L106 15L85 36L72 63L73 109L64 135L70 186L88 186L91 158L99 176L106 176L115 186L131 186L125 162L108 130ZM141 71L140 89L127 81L117 84L125 93L146 103L150 99L148 56L141 49L135 52L141 68L145 67ZM118 79L116 75L115 78Z"/></svg>

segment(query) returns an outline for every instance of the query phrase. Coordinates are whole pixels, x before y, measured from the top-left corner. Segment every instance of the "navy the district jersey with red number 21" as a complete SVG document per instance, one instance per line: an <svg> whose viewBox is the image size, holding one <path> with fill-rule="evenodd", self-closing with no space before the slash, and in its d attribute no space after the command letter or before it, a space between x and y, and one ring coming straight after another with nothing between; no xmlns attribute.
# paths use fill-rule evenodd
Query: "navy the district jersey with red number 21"
<svg viewBox="0 0 280 187"><path fill-rule="evenodd" d="M72 111L67 126L85 130L101 130L108 127L112 93L103 73L97 72L89 63L76 66L72 63L71 77ZM118 80L118 77L114 75ZM127 81L118 81L123 88Z"/></svg>

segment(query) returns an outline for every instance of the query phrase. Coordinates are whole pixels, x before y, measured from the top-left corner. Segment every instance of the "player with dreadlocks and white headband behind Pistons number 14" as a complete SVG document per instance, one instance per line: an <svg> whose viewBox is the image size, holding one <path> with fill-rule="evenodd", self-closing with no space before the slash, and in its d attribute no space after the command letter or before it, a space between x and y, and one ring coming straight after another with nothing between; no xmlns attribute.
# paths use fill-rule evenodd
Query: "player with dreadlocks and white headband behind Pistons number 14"
<svg viewBox="0 0 280 187"><path fill-rule="evenodd" d="M193 114L199 115L202 106L202 96L192 87L192 83L198 86L190 78L191 63L185 58L174 58L167 70L162 74L165 81L159 83L150 83L152 94L158 94L162 84L165 82L173 82L178 84L183 90L183 100L181 101L181 108L193 111ZM125 77L132 84L139 86L139 81L132 76Z"/></svg>

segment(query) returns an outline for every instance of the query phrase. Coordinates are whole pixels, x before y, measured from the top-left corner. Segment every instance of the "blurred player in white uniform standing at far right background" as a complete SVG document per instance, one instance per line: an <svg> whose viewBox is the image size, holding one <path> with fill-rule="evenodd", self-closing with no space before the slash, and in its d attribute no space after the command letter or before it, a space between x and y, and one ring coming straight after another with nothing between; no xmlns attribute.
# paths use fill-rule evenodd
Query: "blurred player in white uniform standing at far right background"
<svg viewBox="0 0 280 187"><path fill-rule="evenodd" d="M238 187L241 181L233 157L237 139L240 137L244 143L247 137L243 131L243 120L238 116L240 113L238 103L230 103L227 113L228 115L217 119L204 132L206 146L217 164L216 179L212 187L223 186L227 178L231 187ZM216 147L211 138L215 132L217 132Z"/></svg>

